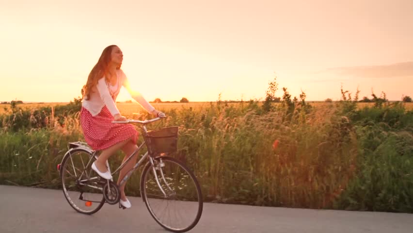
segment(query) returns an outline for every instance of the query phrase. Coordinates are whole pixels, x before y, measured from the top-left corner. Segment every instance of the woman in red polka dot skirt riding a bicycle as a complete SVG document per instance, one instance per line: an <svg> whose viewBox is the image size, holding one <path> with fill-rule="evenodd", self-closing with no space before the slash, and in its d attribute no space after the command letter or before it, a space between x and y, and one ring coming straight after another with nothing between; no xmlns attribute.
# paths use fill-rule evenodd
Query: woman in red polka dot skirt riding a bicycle
<svg viewBox="0 0 413 233"><path fill-rule="evenodd" d="M126 87L132 98L138 101L149 113L158 116L160 113L143 96L131 90L125 73L120 69L123 54L116 45L106 47L100 55L95 67L89 74L86 85L83 86L82 109L80 111L80 124L86 142L93 150L101 150L101 154L92 164L92 169L105 178L111 179L111 173L106 167L108 158L119 149L122 149L127 158L137 149L136 140L138 132L135 127L128 124L113 124L115 121L124 121L116 107L116 97L122 86ZM136 163L135 155L119 173L118 184L122 181L127 171ZM120 204L130 208L131 204L125 195L125 184L120 188Z"/></svg>

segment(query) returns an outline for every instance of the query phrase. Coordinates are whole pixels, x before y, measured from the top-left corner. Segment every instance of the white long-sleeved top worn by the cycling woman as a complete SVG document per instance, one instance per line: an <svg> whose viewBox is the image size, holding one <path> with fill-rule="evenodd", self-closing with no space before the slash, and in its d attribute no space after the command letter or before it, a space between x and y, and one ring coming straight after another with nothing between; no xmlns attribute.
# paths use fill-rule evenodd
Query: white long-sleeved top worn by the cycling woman
<svg viewBox="0 0 413 233"><path fill-rule="evenodd" d="M92 88L89 100L83 99L82 107L86 108L92 116L96 116L100 113L102 108L106 105L111 112L112 116L120 114L116 107L116 97L122 86L124 86L134 100L136 100L147 112L152 112L155 108L146 101L141 93L134 91L130 88L129 82L125 73L118 69L116 70L116 84L112 86L110 83L106 83L105 77L97 81L97 85Z"/></svg>

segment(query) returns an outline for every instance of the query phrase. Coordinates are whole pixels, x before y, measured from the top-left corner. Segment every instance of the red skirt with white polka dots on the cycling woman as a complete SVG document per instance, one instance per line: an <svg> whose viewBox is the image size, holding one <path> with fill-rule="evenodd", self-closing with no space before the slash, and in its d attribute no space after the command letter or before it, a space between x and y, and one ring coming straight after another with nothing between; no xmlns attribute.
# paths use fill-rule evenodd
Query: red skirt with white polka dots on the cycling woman
<svg viewBox="0 0 413 233"><path fill-rule="evenodd" d="M105 150L111 146L123 142L132 137L136 144L138 132L130 124L114 124L113 116L105 106L96 116L83 108L80 110L80 125L85 136L86 143L93 150Z"/></svg>

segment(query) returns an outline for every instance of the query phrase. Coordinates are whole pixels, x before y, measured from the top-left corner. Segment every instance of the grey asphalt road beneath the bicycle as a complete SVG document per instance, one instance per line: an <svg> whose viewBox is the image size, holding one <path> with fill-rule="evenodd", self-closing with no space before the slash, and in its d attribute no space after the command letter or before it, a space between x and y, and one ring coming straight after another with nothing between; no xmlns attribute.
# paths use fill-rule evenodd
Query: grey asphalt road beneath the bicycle
<svg viewBox="0 0 413 233"><path fill-rule="evenodd" d="M60 190L0 185L0 233L166 233L142 199L73 210ZM413 233L413 214L310 210L204 203L191 233Z"/></svg>

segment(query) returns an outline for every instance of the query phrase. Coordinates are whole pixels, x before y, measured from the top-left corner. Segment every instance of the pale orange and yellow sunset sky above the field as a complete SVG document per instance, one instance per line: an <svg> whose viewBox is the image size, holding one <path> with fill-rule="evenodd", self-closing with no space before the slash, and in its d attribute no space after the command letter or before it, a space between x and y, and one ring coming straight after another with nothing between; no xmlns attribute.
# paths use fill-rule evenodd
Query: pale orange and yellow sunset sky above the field
<svg viewBox="0 0 413 233"><path fill-rule="evenodd" d="M412 0L0 0L0 101L68 102L102 50L145 99L413 96ZM123 90L118 101L129 100Z"/></svg>

